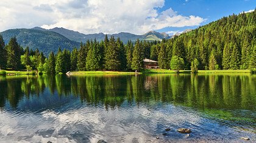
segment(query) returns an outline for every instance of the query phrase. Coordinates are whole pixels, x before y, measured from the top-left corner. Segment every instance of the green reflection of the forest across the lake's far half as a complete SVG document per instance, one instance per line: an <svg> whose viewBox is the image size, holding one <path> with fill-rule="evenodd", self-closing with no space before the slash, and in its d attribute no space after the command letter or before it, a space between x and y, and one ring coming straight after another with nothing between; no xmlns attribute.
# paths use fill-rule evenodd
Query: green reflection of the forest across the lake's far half
<svg viewBox="0 0 256 143"><path fill-rule="evenodd" d="M251 75L1 76L0 107L8 103L16 108L20 102L48 93L106 108L120 107L127 101L255 111L255 85L256 77Z"/></svg>

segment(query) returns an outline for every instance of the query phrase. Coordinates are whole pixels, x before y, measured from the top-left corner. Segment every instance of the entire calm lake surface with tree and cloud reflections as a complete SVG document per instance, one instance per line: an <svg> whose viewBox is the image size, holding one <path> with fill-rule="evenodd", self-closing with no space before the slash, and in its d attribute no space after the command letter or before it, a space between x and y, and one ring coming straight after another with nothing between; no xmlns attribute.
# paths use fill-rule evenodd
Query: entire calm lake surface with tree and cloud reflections
<svg viewBox="0 0 256 143"><path fill-rule="evenodd" d="M256 142L255 135L255 75L0 76L0 142Z"/></svg>

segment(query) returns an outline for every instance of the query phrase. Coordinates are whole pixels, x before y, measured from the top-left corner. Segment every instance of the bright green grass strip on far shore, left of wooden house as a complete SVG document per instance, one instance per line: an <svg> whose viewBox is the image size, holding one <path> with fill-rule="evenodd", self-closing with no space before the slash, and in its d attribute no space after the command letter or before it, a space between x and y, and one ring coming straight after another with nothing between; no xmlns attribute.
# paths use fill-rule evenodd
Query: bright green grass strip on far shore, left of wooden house
<svg viewBox="0 0 256 143"><path fill-rule="evenodd" d="M86 74L119 74L119 75L129 75L135 74L135 72L129 71L71 71L71 75L86 75Z"/></svg>

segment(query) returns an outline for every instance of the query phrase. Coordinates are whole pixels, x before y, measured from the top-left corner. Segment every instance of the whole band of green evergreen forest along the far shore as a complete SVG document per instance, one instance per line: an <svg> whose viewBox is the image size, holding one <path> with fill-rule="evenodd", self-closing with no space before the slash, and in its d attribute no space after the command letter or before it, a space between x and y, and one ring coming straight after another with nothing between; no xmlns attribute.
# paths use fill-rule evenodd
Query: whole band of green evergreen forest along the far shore
<svg viewBox="0 0 256 143"><path fill-rule="evenodd" d="M113 36L87 41L73 51L60 50L45 58L39 50L22 48L0 36L0 67L38 69L45 73L74 70L141 70L143 59L157 60L160 68L217 70L256 68L256 10L231 15L191 32L160 41L128 41Z"/></svg>

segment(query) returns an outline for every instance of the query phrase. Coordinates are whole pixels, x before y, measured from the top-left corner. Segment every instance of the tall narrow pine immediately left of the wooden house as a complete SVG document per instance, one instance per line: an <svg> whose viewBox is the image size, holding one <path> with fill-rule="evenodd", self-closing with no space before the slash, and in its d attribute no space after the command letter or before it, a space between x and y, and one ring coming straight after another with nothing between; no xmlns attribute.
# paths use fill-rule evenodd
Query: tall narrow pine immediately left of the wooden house
<svg viewBox="0 0 256 143"><path fill-rule="evenodd" d="M132 53L132 70L140 71L143 68L143 55L140 40L137 39Z"/></svg>

